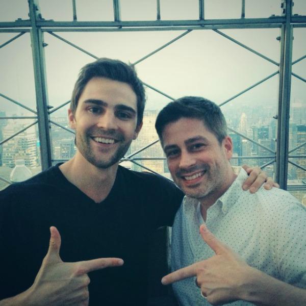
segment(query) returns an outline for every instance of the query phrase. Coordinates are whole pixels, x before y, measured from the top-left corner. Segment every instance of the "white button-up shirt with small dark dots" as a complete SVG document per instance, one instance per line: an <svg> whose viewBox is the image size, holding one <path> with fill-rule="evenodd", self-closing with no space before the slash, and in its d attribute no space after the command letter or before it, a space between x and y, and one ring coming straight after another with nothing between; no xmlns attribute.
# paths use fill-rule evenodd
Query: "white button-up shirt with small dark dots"
<svg viewBox="0 0 306 306"><path fill-rule="evenodd" d="M297 287L306 288L306 208L289 192L263 187L243 191L241 169L232 186L208 209L206 225L252 267ZM214 255L203 242L199 202L185 196L172 227L172 271ZM173 284L180 305L210 305L199 294L194 277ZM231 306L251 305L236 301Z"/></svg>

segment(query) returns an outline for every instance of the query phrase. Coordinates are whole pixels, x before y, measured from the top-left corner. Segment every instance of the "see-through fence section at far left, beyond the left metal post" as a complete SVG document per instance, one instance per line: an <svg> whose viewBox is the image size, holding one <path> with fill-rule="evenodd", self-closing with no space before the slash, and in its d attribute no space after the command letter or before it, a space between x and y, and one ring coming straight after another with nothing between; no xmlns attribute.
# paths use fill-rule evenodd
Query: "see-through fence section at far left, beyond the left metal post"
<svg viewBox="0 0 306 306"><path fill-rule="evenodd" d="M0 44L18 33L1 33ZM36 110L34 69L30 34L26 33L0 49L0 93ZM7 98L0 97L0 117L35 116ZM33 123L34 119L0 119L0 142ZM37 124L0 145L0 177L10 181L16 160L22 159L32 174L40 168ZM8 185L0 179L0 189Z"/></svg>

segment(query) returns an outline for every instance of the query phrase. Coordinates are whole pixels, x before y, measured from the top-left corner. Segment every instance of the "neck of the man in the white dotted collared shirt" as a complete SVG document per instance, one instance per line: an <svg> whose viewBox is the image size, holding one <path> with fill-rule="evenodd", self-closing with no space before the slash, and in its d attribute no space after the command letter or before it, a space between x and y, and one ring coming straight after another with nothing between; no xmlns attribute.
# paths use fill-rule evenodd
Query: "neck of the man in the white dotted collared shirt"
<svg viewBox="0 0 306 306"><path fill-rule="evenodd" d="M214 203L227 191L228 188L231 187L236 177L237 175L233 172L232 167L228 168L226 179L223 181L222 186L220 186L216 191L199 199L201 215L204 221L206 221L208 209L214 205Z"/></svg>

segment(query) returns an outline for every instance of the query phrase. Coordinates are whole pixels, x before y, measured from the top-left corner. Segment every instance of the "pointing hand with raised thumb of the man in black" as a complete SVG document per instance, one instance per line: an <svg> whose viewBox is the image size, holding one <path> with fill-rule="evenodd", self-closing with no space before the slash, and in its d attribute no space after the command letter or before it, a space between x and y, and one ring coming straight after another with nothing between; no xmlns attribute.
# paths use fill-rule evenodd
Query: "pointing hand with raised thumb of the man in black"
<svg viewBox="0 0 306 306"><path fill-rule="evenodd" d="M22 305L88 305L90 279L87 273L107 267L121 266L123 260L119 258L99 258L65 263L60 258L60 233L54 226L50 227L50 233L48 252L43 259L34 284L25 294L27 302L22 303ZM24 293L20 296L24 296ZM14 298L17 298L17 296Z"/></svg>

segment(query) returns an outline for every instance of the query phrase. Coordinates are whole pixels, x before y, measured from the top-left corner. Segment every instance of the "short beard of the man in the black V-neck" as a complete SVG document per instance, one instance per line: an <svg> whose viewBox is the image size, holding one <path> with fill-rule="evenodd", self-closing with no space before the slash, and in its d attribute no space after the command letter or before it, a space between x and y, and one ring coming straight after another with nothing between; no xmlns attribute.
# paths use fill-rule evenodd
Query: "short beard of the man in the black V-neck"
<svg viewBox="0 0 306 306"><path fill-rule="evenodd" d="M97 135L97 133L95 133ZM91 147L91 141L93 141L87 133L81 135L80 133L76 133L75 142L78 147L78 150L83 155L83 157L92 165L100 169L107 169L117 162L120 161L122 157L124 157L125 153L129 149L132 139L130 141L126 141L124 135L118 132L105 131L103 136L114 137L118 142L118 146L115 151L112 152L98 152L95 153L95 150Z"/></svg>

